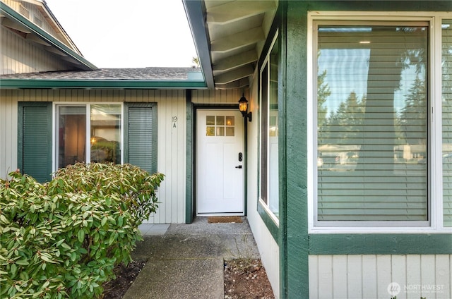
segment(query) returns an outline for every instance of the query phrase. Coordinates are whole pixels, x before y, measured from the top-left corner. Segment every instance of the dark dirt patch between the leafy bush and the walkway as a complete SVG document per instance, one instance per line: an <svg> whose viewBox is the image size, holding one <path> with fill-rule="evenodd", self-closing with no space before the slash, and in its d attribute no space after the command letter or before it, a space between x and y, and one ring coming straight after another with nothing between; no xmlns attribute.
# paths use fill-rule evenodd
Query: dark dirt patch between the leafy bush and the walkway
<svg viewBox="0 0 452 299"><path fill-rule="evenodd" d="M121 299L143 269L145 262L133 261L127 266L120 264L114 268L116 279L105 283L103 298Z"/></svg>

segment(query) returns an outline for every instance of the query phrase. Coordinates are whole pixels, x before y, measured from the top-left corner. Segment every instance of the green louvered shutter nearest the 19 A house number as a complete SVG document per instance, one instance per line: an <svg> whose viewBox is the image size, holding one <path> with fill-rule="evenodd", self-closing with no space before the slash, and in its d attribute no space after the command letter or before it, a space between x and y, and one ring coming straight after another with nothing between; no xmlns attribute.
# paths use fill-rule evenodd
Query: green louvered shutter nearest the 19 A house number
<svg viewBox="0 0 452 299"><path fill-rule="evenodd" d="M124 104L124 162L157 172L157 104Z"/></svg>

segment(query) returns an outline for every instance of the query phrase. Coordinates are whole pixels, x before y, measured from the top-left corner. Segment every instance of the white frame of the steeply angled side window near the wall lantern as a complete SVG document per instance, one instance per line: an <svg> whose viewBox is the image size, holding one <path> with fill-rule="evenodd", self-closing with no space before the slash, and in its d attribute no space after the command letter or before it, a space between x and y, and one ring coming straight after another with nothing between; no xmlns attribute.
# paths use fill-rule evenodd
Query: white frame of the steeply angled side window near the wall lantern
<svg viewBox="0 0 452 299"><path fill-rule="evenodd" d="M276 225L276 226L279 226L279 219L278 219L278 216L276 216L275 215L275 213L273 212L273 211L271 211L271 209L270 209L270 204L269 204L269 200L270 200L270 198L269 198L269 189L270 189L270 186L269 186L269 171L268 171L268 167L269 167L269 165L270 165L270 163L269 163L269 157L268 157L268 145L269 145L269 142L268 142L268 125L269 125L269 120L270 120L270 72L271 72L271 70L270 70L270 54L271 54L271 52L272 52L272 50L273 50L273 47L275 46L275 43L276 42L278 42L278 37L279 37L279 30L277 29L277 30L275 30L275 32L273 33L273 35L272 35L272 39L270 39L271 40L271 42L270 42L270 44L269 44L269 47L268 48L266 48L266 55L265 56L263 56L263 61L262 61L262 63L261 64L259 64L259 69L258 69L258 87L259 87L259 90L258 90L258 106L259 106L259 108L260 108L260 111L259 111L259 115L258 115L258 127L259 127L259 130L258 130L258 134L259 134L259 138L258 138L258 140L259 140L259 142L258 142L258 146L259 146L259 156L258 156L258 169L259 169L259 173L258 173L258 209L259 209L259 207L263 210L263 212L264 213L266 213L269 217L270 217L270 219L271 219L271 221L273 221L273 223ZM280 59L278 58L278 63L279 63L279 61L280 61ZM266 92L267 92L267 95L266 95L266 99L267 99L267 101L266 101L266 107L265 107L265 109L266 109L266 114L265 114L265 116L266 116L266 118L267 118L267 122L266 122L266 128L265 128L265 132L263 131L264 129L263 129L263 127L262 127L262 117L263 117L263 109L264 109L264 107L263 107L263 105L262 105L262 98L263 98L263 95L262 95L262 91L263 91L263 88L262 88L262 83L263 83L263 80L262 80L262 78L263 78L263 75L262 75L262 73L263 73L263 71L266 69L266 72L267 72L267 75L266 75L266 79L267 79L267 86L266 86ZM278 120L277 120L277 122L278 122ZM279 126L279 125L278 125ZM263 133L266 133L267 134L267 136L266 136L266 148L265 149L263 149L263 144L262 144L262 136L263 136ZM265 185L266 185L266 200L264 200L263 199L263 197L262 197L262 185L263 185L263 183L262 183L262 178L263 178L263 173L262 173L262 167L261 167L261 165L262 165L262 158L263 158L263 151L265 150L265 152L266 152L266 182L265 182ZM278 161L278 164L279 164L279 161ZM279 189L279 188L278 188ZM278 197L278 205L279 205L279 197Z"/></svg>

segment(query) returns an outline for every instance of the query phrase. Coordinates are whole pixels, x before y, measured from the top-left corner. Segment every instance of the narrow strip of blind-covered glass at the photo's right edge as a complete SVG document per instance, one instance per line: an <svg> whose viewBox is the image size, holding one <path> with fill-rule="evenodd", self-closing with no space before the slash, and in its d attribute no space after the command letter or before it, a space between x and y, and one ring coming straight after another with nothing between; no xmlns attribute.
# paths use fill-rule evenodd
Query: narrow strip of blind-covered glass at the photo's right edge
<svg viewBox="0 0 452 299"><path fill-rule="evenodd" d="M452 226L452 20L444 20L441 33L444 226Z"/></svg>

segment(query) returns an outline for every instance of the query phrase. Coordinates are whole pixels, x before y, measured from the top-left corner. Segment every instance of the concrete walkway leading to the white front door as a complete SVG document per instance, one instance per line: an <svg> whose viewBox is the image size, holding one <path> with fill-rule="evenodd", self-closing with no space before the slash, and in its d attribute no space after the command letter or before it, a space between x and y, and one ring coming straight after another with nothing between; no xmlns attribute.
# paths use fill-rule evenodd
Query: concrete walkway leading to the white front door
<svg viewBox="0 0 452 299"><path fill-rule="evenodd" d="M145 224L144 241L133 260L147 260L124 299L225 298L224 260L259 257L246 221L209 224L206 217L193 224Z"/></svg>

